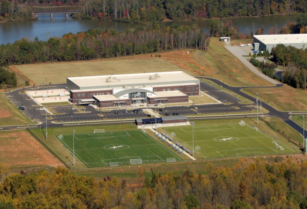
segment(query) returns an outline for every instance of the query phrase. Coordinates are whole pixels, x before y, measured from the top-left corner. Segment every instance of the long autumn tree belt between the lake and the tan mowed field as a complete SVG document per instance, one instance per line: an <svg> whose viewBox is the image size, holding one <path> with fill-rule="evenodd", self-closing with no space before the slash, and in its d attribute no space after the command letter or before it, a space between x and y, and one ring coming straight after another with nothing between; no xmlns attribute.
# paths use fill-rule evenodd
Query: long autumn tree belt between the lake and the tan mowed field
<svg viewBox="0 0 307 209"><path fill-rule="evenodd" d="M206 50L210 38L198 26L146 27L116 32L114 29L89 29L64 34L48 41L21 39L0 46L0 65L49 61L91 60L194 48Z"/></svg>

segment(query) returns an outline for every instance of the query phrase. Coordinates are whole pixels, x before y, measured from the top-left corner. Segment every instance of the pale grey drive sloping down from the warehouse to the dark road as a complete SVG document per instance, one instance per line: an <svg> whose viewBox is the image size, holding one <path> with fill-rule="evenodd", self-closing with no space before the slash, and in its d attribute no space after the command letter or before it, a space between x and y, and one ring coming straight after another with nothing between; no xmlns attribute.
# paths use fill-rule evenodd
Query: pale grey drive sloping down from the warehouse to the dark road
<svg viewBox="0 0 307 209"><path fill-rule="evenodd" d="M269 81L270 83L273 83L274 85L281 84L278 80L272 79L266 75L264 75L262 72L260 72L253 64L249 62L249 59L247 57L243 57L243 55L247 55L245 52L240 49L239 46L225 46L225 48L231 52L234 56L236 56L248 69L251 70L251 72L255 73L259 77Z"/></svg>

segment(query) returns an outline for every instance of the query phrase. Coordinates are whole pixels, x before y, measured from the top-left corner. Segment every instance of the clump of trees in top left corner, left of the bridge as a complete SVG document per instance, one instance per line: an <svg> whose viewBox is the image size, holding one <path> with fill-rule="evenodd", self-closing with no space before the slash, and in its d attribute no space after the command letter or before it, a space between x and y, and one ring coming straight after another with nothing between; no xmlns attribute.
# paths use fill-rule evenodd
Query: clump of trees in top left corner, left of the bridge
<svg viewBox="0 0 307 209"><path fill-rule="evenodd" d="M32 9L25 1L0 0L0 21L32 20Z"/></svg>

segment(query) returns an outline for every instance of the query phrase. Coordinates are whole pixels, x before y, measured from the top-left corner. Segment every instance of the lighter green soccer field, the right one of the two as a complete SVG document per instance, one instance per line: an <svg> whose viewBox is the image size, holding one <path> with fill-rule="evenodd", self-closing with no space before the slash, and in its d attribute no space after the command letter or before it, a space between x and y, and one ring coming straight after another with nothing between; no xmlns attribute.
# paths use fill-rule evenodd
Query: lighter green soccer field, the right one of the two
<svg viewBox="0 0 307 209"><path fill-rule="evenodd" d="M280 135L269 136L261 130L245 124L210 124L164 128L167 134L174 132L180 143L192 150L194 141L194 156L199 159L220 157L255 156L266 154L297 153L299 150L292 145L278 140ZM192 133L194 132L194 140ZM274 142L282 146L281 150ZM175 140L176 142L176 140ZM200 150L195 147L199 146ZM196 155L197 154L197 155ZM199 157L198 157L199 156Z"/></svg>

